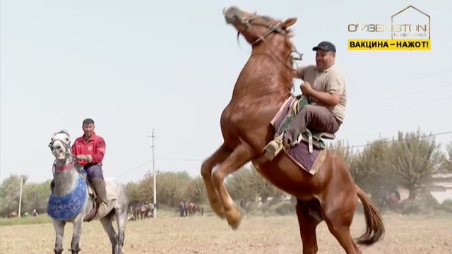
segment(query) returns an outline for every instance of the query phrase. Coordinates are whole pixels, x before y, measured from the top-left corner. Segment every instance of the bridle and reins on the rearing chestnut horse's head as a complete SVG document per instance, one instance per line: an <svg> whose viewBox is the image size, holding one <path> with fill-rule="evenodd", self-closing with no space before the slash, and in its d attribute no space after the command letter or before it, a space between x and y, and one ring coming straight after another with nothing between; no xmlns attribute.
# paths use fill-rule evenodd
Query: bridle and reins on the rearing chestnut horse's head
<svg viewBox="0 0 452 254"><path fill-rule="evenodd" d="M260 22L256 22L254 21L254 18L256 17L256 13L253 13L249 18L245 18L241 20L241 23L246 25L248 28L251 28L251 26L253 25L257 25L257 26L263 26L263 27L267 27L270 30L268 30L268 32L263 35L263 36L259 36L257 40L255 40L254 42L251 42L251 45L254 45L258 42L267 42L266 41L266 37L268 35L271 35L273 32L278 32L280 35L287 35L287 30L283 30L280 28L280 23L276 24L276 25L272 25L270 23L260 23ZM237 37L240 35L240 32L237 32ZM280 59L275 52L273 52L272 49L270 49L271 54L273 54L273 56L276 57L276 59L278 59L279 61L281 61L282 63L284 63L285 66L287 66L287 68L290 68L291 71L297 71L296 69L293 68L293 66L289 66L287 64L287 61L283 61L282 59ZM299 55L299 57L292 57L292 53L296 53ZM292 49L292 51L290 51L289 56L287 56L288 58L290 58L290 61L293 63L294 60L299 60L302 61L303 58L303 54L300 54L299 52L297 52L297 49Z"/></svg>

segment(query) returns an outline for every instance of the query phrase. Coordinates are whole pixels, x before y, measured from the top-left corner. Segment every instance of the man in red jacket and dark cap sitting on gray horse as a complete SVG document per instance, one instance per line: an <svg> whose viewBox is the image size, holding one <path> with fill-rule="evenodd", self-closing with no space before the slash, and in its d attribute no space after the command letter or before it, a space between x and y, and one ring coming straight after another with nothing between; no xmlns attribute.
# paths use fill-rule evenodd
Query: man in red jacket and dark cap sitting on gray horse
<svg viewBox="0 0 452 254"><path fill-rule="evenodd" d="M82 123L83 135L75 140L71 147L72 154L78 159L78 164L84 166L88 180L93 183L97 198L101 201L97 213L102 217L107 211L107 193L102 174L102 160L105 155L105 140L95 133L93 119L85 119ZM54 181L50 183L54 188Z"/></svg>

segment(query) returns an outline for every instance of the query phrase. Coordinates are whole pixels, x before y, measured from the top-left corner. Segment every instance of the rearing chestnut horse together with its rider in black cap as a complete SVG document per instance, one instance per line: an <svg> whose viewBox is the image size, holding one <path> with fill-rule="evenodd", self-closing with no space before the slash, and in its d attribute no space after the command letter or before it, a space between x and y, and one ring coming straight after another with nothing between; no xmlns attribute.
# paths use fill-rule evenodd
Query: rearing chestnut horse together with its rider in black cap
<svg viewBox="0 0 452 254"><path fill-rule="evenodd" d="M314 47L316 65L294 69L292 54L297 50L290 27L297 18L278 20L235 6L225 8L223 15L252 52L220 116L223 142L201 165L210 207L232 229L238 228L242 215L225 178L251 162L264 179L297 198L303 253L319 250L316 227L323 221L346 253L362 253L357 243L376 243L385 229L379 210L356 185L347 164L323 143L335 138L347 100L334 45L319 43ZM304 80L302 96L292 95L294 78ZM350 225L358 198L367 229L355 243Z"/></svg>

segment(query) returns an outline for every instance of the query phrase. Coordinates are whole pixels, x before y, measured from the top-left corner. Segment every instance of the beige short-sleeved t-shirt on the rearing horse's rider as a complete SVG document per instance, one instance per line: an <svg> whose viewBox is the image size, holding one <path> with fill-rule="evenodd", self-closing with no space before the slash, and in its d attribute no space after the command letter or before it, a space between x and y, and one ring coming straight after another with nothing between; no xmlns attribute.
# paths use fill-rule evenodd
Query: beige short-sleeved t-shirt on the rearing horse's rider
<svg viewBox="0 0 452 254"><path fill-rule="evenodd" d="M333 64L333 66L325 71L317 70L315 65L302 66L297 70L297 78L307 81L316 91L339 93L340 101L339 104L335 106L323 105L316 102L314 98L312 98L313 102L311 104L326 107L340 123L343 123L345 106L347 105L347 89L345 86L345 78L338 66Z"/></svg>

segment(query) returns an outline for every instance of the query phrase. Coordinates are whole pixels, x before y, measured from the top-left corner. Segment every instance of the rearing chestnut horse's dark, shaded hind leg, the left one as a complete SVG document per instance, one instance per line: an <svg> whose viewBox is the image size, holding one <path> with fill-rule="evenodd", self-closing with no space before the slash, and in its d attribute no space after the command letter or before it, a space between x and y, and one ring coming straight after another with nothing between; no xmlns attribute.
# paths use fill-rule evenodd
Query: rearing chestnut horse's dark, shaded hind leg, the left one
<svg viewBox="0 0 452 254"><path fill-rule="evenodd" d="M302 237L303 254L315 254L317 246L316 227L323 220L318 200L302 201L297 199L297 217L299 234Z"/></svg>

